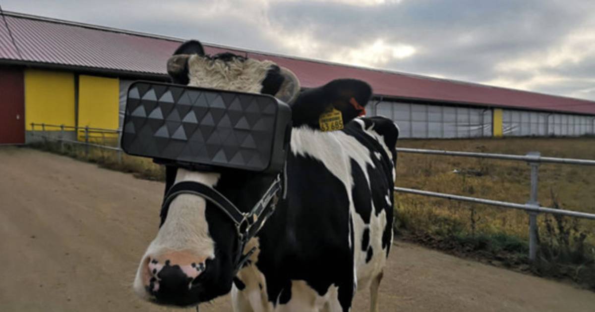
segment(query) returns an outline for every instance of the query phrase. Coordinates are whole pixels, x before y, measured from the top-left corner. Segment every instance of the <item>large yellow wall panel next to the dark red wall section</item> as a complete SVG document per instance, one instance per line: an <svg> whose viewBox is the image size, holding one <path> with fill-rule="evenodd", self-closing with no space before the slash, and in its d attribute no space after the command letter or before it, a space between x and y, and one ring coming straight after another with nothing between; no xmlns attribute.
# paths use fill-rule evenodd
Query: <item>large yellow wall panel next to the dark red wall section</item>
<svg viewBox="0 0 595 312"><path fill-rule="evenodd" d="M31 123L74 126L74 74L25 70L25 128ZM36 130L41 130L39 127ZM60 128L46 127L46 130Z"/></svg>

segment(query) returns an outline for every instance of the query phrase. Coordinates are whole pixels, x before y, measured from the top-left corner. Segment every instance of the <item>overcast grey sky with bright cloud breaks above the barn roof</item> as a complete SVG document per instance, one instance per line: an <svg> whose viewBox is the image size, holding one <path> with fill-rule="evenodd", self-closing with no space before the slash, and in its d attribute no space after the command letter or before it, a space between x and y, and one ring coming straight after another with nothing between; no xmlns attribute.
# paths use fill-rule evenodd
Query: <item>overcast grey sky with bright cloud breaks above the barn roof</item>
<svg viewBox="0 0 595 312"><path fill-rule="evenodd" d="M595 100L594 0L0 0L29 14Z"/></svg>

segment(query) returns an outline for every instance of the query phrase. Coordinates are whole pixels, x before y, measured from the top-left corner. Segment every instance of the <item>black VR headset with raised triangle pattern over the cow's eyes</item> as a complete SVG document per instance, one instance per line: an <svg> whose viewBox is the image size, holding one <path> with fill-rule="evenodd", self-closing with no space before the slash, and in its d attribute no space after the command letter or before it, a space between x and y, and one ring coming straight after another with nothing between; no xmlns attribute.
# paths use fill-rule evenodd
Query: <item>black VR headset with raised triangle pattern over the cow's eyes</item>
<svg viewBox="0 0 595 312"><path fill-rule="evenodd" d="M291 135L289 105L266 94L137 81L121 147L167 165L279 172Z"/></svg>

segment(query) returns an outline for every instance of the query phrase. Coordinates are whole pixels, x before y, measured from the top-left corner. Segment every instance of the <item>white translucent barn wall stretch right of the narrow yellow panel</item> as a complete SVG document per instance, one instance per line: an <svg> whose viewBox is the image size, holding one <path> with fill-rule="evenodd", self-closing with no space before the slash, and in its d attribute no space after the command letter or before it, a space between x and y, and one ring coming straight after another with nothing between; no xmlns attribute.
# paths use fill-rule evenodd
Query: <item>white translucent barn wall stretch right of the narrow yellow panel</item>
<svg viewBox="0 0 595 312"><path fill-rule="evenodd" d="M504 136L595 134L594 121L595 116L504 109L502 133Z"/></svg>

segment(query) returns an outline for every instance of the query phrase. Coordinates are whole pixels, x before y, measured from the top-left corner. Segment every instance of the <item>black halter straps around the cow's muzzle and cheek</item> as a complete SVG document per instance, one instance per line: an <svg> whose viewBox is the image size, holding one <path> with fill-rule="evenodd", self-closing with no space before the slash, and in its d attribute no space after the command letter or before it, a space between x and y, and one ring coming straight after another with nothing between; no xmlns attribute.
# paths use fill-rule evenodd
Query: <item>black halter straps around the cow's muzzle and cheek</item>
<svg viewBox="0 0 595 312"><path fill-rule="evenodd" d="M274 181L271 183L271 186L264 193L261 199L254 205L252 210L249 212L242 212L236 207L236 205L231 203L227 197L223 196L223 194L219 193L219 191L209 187L208 185L193 181L183 181L173 184L171 181L171 175L173 175L173 179L175 179L177 170L171 173L170 170L171 169L168 168L168 181L166 184L164 201L161 206L161 224L159 227L161 228L165 222L165 218L167 218L167 213L170 209L170 204L177 196L181 194L192 194L202 197L206 201L210 201L216 207L221 209L221 211L223 211L236 226L238 250L236 253L236 259L234 261L235 276L237 271L242 268L246 260L248 260L255 251L256 247L253 247L248 251L248 253L244 254L243 250L246 247L246 244L250 238L254 237L256 233L258 233L258 231L264 225L264 222L275 211L281 190L284 188L284 185L282 185L284 182L284 178L282 178L284 172L281 172L277 175L277 177L275 177Z"/></svg>

